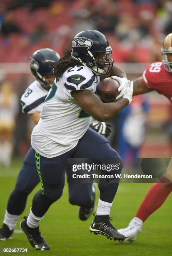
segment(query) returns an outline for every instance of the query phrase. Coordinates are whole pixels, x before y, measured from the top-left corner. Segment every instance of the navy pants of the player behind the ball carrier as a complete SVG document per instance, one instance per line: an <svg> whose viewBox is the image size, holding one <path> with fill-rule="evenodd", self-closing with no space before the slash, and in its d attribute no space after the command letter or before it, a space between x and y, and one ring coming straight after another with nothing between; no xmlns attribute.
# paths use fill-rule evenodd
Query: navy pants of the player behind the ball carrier
<svg viewBox="0 0 172 256"><path fill-rule="evenodd" d="M8 203L7 212L20 215L27 202L27 196L40 182L35 164L34 150L30 148L25 156L23 166L18 174L15 189L12 191ZM72 205L85 208L92 205L92 184L69 184L69 201Z"/></svg>

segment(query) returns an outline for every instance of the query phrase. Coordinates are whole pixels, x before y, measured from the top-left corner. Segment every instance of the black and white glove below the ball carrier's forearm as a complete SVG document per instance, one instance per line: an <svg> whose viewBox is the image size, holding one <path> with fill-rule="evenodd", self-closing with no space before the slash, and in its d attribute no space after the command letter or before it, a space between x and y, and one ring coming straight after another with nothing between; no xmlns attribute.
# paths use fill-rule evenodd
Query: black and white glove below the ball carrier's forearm
<svg viewBox="0 0 172 256"><path fill-rule="evenodd" d="M92 130L96 131L101 135L104 135L106 138L111 133L111 127L112 125L110 125L109 123L100 122L100 121L94 121L93 123L90 124L90 128L92 128Z"/></svg>

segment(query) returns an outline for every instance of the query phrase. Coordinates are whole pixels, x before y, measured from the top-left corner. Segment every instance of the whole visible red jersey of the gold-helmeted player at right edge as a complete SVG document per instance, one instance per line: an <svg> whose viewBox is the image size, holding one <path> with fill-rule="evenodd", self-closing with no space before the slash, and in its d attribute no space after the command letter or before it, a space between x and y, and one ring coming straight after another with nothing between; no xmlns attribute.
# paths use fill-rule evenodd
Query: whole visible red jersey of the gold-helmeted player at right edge
<svg viewBox="0 0 172 256"><path fill-rule="evenodd" d="M149 65L142 75L146 87L165 95L172 102L172 73L168 72L163 62Z"/></svg>

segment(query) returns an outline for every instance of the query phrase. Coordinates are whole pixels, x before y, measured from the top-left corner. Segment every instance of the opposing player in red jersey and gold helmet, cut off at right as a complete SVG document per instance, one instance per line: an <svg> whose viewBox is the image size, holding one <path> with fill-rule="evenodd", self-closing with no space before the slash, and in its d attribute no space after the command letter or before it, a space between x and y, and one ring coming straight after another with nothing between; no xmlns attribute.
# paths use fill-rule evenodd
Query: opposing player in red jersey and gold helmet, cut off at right
<svg viewBox="0 0 172 256"><path fill-rule="evenodd" d="M142 77L134 80L133 95L156 90L172 102L172 33L166 36L161 52L162 61L152 63L145 69ZM147 192L135 218L130 221L127 228L118 230L127 237L125 241L136 240L145 220L165 202L170 192L172 192L172 159L165 175Z"/></svg>

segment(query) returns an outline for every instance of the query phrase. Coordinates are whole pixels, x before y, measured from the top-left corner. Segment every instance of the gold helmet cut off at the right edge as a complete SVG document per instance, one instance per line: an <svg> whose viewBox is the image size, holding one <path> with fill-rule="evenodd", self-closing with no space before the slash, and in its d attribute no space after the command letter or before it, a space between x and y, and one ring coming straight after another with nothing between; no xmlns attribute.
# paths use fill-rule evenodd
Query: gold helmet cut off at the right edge
<svg viewBox="0 0 172 256"><path fill-rule="evenodd" d="M168 34L164 39L161 53L165 69L172 73L172 61L168 61L168 54L172 54L172 33Z"/></svg>

